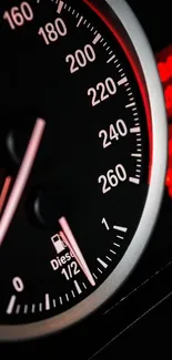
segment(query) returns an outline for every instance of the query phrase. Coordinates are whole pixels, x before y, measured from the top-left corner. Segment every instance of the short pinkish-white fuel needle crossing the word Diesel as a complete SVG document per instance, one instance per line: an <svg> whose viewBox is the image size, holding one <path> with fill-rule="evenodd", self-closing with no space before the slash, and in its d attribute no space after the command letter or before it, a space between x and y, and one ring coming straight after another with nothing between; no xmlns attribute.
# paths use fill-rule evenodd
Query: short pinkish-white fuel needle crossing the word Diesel
<svg viewBox="0 0 172 360"><path fill-rule="evenodd" d="M81 269L83 270L85 277L88 278L88 280L90 281L90 284L92 286L95 286L95 281L91 275L91 271L83 258L83 255L77 244L77 240L71 232L71 228L65 219L65 217L61 217L59 219L59 224L62 228L62 232L60 232L60 235L62 237L62 240L64 241L64 244L69 247L69 249L73 253L75 260L78 261L79 266L81 267Z"/></svg>

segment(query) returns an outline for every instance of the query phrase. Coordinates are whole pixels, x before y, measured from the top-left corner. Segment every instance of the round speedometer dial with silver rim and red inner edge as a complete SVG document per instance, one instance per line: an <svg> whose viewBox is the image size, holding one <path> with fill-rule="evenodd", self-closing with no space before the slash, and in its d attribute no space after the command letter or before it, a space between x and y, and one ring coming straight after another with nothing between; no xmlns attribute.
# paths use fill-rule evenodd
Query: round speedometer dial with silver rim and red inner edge
<svg viewBox="0 0 172 360"><path fill-rule="evenodd" d="M113 2L1 1L1 339L95 310L156 218L163 97L139 23Z"/></svg>

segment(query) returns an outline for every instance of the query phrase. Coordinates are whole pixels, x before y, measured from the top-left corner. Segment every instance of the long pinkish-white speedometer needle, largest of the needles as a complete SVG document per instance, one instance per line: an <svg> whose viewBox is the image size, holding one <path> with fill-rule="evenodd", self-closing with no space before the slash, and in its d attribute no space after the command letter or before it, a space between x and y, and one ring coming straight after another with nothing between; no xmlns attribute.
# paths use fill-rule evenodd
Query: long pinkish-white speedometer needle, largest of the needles
<svg viewBox="0 0 172 360"><path fill-rule="evenodd" d="M42 119L38 119L34 124L24 157L19 168L19 173L17 175L16 182L10 193L8 203L4 207L2 217L0 219L0 245L4 239L6 233L10 226L14 212L18 207L18 204L24 191L27 181L31 173L39 150L39 145L43 135L44 126L45 126L45 121Z"/></svg>

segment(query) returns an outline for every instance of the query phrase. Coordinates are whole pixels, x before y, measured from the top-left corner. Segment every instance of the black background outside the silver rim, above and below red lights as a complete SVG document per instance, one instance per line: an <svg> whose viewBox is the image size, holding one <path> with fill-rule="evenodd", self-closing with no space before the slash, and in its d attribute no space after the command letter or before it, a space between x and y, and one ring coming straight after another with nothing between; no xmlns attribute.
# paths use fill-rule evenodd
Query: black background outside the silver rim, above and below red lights
<svg viewBox="0 0 172 360"><path fill-rule="evenodd" d="M130 0L154 53L172 43L170 1ZM172 199L164 189L158 224L139 266L122 290L103 308L62 336L0 344L0 359L11 356L113 359L171 358Z"/></svg>

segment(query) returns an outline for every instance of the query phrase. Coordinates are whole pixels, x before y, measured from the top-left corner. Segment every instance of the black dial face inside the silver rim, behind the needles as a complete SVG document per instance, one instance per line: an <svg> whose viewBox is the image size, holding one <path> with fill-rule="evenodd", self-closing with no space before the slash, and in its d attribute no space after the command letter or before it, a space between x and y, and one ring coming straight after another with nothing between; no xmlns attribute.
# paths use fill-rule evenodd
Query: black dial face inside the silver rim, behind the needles
<svg viewBox="0 0 172 360"><path fill-rule="evenodd" d="M37 117L45 121L45 130L0 251L1 325L51 318L93 292L124 255L146 199L151 145L135 74L99 17L83 2L72 8L70 3L57 16L55 3L32 0L30 21L19 29L11 29L4 19L2 23L1 146L4 142L2 162L6 157L12 182ZM2 18L10 6L1 2ZM79 27L81 16L85 25ZM61 21L61 35L55 19ZM103 41L94 44L97 33ZM115 60L110 61L112 55ZM118 85L121 79L124 83ZM51 237L60 234L61 217L67 218L95 286L69 248L54 250ZM13 286L16 277L23 284L21 291ZM9 313L12 296L16 305Z"/></svg>

